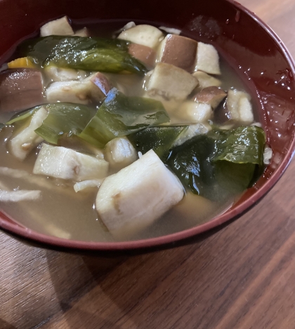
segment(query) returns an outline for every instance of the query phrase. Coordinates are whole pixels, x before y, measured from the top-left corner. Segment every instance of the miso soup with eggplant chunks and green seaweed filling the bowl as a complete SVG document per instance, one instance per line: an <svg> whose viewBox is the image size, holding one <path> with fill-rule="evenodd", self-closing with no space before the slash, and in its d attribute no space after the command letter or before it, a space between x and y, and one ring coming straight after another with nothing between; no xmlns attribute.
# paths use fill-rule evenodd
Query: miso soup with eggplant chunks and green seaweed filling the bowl
<svg viewBox="0 0 295 329"><path fill-rule="evenodd" d="M271 157L249 89L214 46L114 26L54 20L1 67L0 210L27 228L169 235L229 209Z"/></svg>

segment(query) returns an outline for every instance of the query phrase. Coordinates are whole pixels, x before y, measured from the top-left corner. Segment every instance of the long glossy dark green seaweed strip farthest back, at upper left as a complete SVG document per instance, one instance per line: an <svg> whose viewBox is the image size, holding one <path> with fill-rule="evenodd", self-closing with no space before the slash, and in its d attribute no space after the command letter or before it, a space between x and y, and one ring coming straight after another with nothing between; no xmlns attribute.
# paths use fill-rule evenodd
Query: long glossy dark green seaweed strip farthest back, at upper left
<svg viewBox="0 0 295 329"><path fill-rule="evenodd" d="M128 53L129 42L94 37L49 36L23 42L20 56L29 56L41 66L58 66L109 73L147 72Z"/></svg>

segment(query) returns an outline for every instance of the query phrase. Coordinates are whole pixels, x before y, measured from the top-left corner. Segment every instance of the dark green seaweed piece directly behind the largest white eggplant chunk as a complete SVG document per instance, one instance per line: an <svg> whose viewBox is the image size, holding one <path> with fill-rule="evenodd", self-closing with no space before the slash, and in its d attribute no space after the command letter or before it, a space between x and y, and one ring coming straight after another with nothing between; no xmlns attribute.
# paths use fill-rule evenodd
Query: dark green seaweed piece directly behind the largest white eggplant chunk
<svg viewBox="0 0 295 329"><path fill-rule="evenodd" d="M162 161L169 156L169 150L177 137L185 130L187 125L169 127L150 127L128 136L136 151L145 154L150 149L154 150Z"/></svg>

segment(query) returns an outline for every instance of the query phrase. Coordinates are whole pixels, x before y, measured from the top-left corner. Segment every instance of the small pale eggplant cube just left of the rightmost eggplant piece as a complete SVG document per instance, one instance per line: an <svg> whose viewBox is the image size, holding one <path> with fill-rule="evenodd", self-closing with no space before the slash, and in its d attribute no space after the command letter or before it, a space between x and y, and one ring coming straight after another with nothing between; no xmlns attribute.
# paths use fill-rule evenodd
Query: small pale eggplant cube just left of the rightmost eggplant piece
<svg viewBox="0 0 295 329"><path fill-rule="evenodd" d="M185 101L176 113L183 123L207 123L213 116L210 104Z"/></svg>

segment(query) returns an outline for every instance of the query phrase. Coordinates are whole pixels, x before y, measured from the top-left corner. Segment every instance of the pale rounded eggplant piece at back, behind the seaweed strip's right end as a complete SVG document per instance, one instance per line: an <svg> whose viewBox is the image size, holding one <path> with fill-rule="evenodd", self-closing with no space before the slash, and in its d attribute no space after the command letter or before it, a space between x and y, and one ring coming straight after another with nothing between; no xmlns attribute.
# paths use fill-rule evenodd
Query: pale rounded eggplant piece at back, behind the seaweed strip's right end
<svg viewBox="0 0 295 329"><path fill-rule="evenodd" d="M142 44L156 49L159 43L164 39L163 33L152 25L136 25L124 30L118 36L118 39L128 40L134 44Z"/></svg>

